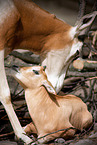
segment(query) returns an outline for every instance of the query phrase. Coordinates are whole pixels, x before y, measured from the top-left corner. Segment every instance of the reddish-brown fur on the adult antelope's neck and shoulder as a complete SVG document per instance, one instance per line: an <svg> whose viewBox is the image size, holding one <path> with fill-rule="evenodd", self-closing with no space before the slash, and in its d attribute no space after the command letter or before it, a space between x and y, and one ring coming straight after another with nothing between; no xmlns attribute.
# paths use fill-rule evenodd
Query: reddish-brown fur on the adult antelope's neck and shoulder
<svg viewBox="0 0 97 145"><path fill-rule="evenodd" d="M30 0L13 0L17 18L9 14L0 26L2 43L12 49L29 49L38 54L51 49L61 49L71 43L70 25L38 7ZM25 13L26 11L26 13ZM14 19L13 19L14 18ZM6 26L6 24L8 24ZM35 29L36 27L36 29ZM34 29L33 29L34 28ZM1 46L0 49L3 49Z"/></svg>

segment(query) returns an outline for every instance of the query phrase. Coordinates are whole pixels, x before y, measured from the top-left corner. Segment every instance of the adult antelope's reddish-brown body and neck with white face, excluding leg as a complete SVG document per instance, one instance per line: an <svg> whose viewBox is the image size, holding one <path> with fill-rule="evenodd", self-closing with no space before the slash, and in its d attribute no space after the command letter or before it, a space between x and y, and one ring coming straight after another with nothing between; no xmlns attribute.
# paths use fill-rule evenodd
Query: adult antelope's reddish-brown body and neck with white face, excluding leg
<svg viewBox="0 0 97 145"><path fill-rule="evenodd" d="M14 49L26 49L39 54L42 65L47 66L49 81L59 92L71 57L82 46L74 37L76 27L57 19L32 0L5 0L0 10L0 50L3 52L4 49L5 56ZM56 73L52 73L57 58L60 61L54 68ZM51 78L53 76L54 80Z"/></svg>

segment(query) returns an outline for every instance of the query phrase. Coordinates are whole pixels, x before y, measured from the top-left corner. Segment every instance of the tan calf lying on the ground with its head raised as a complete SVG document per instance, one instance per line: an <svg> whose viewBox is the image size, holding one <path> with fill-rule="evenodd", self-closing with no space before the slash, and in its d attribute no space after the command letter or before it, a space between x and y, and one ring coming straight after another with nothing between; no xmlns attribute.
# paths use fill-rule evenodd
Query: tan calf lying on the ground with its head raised
<svg viewBox="0 0 97 145"><path fill-rule="evenodd" d="M38 70L39 74L36 75L33 70ZM34 122L25 127L28 134L33 132L42 137L69 127L82 131L91 125L92 115L80 98L74 95L58 96L54 91L52 93L54 88L47 80L43 67L22 68L15 73L15 78L24 86L28 110ZM48 83L49 90L44 82ZM70 138L76 129L49 135L39 142L46 143L58 137Z"/></svg>

